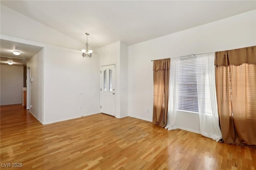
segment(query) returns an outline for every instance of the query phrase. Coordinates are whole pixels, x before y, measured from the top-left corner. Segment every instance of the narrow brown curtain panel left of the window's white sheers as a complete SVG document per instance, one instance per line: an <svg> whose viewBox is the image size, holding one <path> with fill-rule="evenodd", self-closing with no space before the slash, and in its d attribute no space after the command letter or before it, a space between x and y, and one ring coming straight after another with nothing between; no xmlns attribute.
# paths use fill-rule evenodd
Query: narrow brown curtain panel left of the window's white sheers
<svg viewBox="0 0 256 170"><path fill-rule="evenodd" d="M167 123L170 58L154 60L153 124L165 127Z"/></svg>

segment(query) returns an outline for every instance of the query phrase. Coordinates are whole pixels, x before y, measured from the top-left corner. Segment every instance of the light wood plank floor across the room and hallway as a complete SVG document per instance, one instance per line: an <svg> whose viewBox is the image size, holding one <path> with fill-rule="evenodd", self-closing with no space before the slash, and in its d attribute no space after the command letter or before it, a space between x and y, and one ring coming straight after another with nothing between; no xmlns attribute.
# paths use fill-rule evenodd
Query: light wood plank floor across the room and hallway
<svg viewBox="0 0 256 170"><path fill-rule="evenodd" d="M13 169L256 169L256 149L132 117L96 114L42 125L20 105L1 106L0 116L1 166L22 163Z"/></svg>

